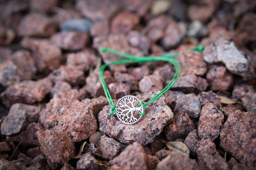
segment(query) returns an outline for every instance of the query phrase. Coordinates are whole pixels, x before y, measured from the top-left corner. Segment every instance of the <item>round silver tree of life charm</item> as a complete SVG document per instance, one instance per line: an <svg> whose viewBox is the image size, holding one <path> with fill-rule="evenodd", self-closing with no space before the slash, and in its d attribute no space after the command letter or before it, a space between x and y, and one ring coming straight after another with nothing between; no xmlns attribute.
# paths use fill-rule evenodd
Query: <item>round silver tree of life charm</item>
<svg viewBox="0 0 256 170"><path fill-rule="evenodd" d="M143 113L143 105L139 106L140 100L135 96L123 96L116 103L116 116L125 124L134 124L141 118L139 111Z"/></svg>

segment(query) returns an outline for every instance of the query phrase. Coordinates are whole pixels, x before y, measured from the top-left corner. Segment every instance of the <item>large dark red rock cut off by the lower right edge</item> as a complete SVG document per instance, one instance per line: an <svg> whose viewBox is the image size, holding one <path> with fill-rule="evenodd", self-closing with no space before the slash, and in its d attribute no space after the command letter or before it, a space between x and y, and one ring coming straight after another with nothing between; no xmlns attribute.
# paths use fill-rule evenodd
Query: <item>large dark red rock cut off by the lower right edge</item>
<svg viewBox="0 0 256 170"><path fill-rule="evenodd" d="M228 116L221 129L220 146L241 163L256 167L255 129L255 114L236 111Z"/></svg>

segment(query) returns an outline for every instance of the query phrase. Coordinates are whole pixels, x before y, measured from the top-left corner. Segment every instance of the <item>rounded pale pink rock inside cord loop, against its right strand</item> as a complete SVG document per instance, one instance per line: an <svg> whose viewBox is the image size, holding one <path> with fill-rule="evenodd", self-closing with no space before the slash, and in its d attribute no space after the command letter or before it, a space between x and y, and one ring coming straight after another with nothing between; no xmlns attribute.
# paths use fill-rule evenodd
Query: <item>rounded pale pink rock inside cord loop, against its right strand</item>
<svg viewBox="0 0 256 170"><path fill-rule="evenodd" d="M139 82L139 89L142 93L163 90L163 82L159 76L154 74L145 76Z"/></svg>

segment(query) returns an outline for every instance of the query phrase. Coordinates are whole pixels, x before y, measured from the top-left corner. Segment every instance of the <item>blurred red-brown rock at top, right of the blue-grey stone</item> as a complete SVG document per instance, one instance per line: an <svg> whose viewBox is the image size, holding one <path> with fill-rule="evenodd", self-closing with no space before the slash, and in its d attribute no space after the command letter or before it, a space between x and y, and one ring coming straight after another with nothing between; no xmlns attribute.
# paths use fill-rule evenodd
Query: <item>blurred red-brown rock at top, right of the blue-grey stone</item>
<svg viewBox="0 0 256 170"><path fill-rule="evenodd" d="M111 22L111 32L126 34L130 32L140 22L140 17L127 11L117 14Z"/></svg>

